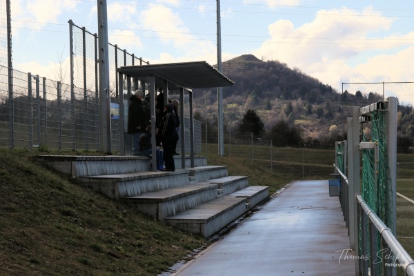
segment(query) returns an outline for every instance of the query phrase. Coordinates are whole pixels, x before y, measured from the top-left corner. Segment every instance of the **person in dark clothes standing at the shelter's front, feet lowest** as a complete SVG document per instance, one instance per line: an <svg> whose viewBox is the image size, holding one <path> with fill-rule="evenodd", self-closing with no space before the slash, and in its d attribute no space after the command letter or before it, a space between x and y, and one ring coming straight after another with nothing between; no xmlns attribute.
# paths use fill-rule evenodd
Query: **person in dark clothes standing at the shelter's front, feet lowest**
<svg viewBox="0 0 414 276"><path fill-rule="evenodd" d="M164 117L161 119L161 137L164 146L164 161L167 171L175 171L174 164L174 148L177 144L177 130L175 123L175 115L172 110L172 103L164 106Z"/></svg>

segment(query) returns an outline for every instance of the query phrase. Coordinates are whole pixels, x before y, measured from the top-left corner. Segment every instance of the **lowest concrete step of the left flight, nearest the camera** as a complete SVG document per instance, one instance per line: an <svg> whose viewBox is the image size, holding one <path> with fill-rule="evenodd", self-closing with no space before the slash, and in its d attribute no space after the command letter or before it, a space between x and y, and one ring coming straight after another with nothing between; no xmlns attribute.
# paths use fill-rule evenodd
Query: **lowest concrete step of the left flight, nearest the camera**
<svg viewBox="0 0 414 276"><path fill-rule="evenodd" d="M226 195L166 217L170 226L210 237L246 212L246 198Z"/></svg>

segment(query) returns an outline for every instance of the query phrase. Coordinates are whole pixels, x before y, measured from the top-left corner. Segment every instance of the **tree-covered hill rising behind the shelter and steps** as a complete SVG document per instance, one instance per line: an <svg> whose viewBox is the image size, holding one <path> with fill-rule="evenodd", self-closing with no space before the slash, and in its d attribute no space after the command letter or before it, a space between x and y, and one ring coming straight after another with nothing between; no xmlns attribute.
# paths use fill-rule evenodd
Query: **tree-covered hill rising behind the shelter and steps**
<svg viewBox="0 0 414 276"><path fill-rule="evenodd" d="M333 146L333 141L346 138L347 109L382 100L375 91L368 95L338 92L298 68L253 55L225 61L222 68L223 74L235 82L223 88L224 131L255 133L246 127L246 115L256 120L257 115L263 131L255 136L274 139L279 146ZM217 89L195 90L194 106L195 117L206 122L210 131L217 131ZM400 135L414 137L413 108L399 110L400 121L411 124L411 128L402 126ZM286 135L289 138L285 142L275 139Z"/></svg>

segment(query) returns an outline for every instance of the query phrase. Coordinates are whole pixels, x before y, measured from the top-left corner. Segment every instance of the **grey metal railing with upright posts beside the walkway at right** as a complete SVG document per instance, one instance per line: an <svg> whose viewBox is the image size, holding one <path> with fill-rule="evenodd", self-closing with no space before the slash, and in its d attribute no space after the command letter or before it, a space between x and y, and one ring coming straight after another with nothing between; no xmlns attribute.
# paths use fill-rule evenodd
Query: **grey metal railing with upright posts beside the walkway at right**
<svg viewBox="0 0 414 276"><path fill-rule="evenodd" d="M396 141L389 139L392 138L391 132L395 128L392 124L395 118L393 115L396 114L397 110L395 98L388 98L387 108L389 112L389 115L387 115L389 117L387 120L389 124L386 124L388 137L387 162L390 167L389 179L391 184L395 184L395 173L391 172L391 170L394 172L397 170L395 166L392 166L392 164L396 164ZM333 166L335 167L335 172L337 172L335 175L339 175L342 180L339 201L348 227L350 246L356 255L355 275L395 276L397 266L401 266L406 275L414 276L414 260L408 255L394 234L395 212L393 210L395 210L395 205L393 206L393 204L395 204L395 199L393 195L388 197L390 202L385 202L388 213L392 212L394 214L393 217L387 217L391 228L386 226L384 221L368 206L362 197L359 181L359 150L365 150L370 145L366 142L360 143L359 141L359 123L361 122L359 115L364 115L364 110L361 111L355 107L353 111L353 118L348 117L347 119L349 140L345 143L347 148L344 152L348 152L348 159L342 160L344 162L348 161L348 177L337 166L337 158L335 160L336 164ZM375 159L376 161L377 158ZM346 166L342 166L342 168L346 168ZM396 186L390 187L395 194Z"/></svg>

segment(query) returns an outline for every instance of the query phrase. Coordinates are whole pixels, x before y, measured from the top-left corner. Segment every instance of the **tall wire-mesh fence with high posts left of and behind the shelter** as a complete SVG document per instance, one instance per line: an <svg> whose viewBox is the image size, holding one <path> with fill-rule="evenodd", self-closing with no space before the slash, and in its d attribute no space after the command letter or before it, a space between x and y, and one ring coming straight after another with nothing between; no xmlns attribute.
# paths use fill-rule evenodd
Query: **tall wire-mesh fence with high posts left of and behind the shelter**
<svg viewBox="0 0 414 276"><path fill-rule="evenodd" d="M5 1L0 12L6 14ZM57 81L32 73L8 70L6 23L0 19L0 146L47 147L57 149L99 150L99 68L97 34L70 24L70 76L63 64L58 66ZM119 66L148 63L134 54L109 44L110 110L112 151L120 151L119 104L128 104L119 92ZM139 81L132 80L134 88ZM12 86L10 86L10 83ZM68 84L69 83L69 84ZM140 83L148 90L148 83ZM126 89L126 88L124 88ZM184 119L184 135L190 139L190 122ZM201 151L201 123L195 121L195 152ZM190 144L186 144L190 152ZM177 144L181 150L181 143Z"/></svg>

